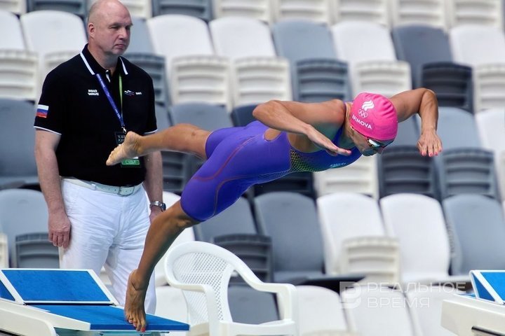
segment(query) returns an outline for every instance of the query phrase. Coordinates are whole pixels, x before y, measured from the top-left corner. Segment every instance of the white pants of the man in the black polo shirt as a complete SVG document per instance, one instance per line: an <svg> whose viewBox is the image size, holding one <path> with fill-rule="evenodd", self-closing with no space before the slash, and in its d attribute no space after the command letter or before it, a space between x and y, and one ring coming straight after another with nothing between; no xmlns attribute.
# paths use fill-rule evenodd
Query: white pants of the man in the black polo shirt
<svg viewBox="0 0 505 336"><path fill-rule="evenodd" d="M72 225L70 244L62 253L60 267L93 269L102 266L112 283L112 294L124 306L128 276L136 269L149 229L149 209L144 188L119 196L62 181L65 210ZM149 281L145 309L154 314L154 274Z"/></svg>

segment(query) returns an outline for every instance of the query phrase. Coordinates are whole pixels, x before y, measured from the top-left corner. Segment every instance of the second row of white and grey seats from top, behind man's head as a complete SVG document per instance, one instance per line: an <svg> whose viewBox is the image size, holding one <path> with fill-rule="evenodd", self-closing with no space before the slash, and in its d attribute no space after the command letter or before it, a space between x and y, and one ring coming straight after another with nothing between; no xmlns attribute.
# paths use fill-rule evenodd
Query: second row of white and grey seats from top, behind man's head
<svg viewBox="0 0 505 336"><path fill-rule="evenodd" d="M36 100L46 73L86 43L82 21L69 13L41 10L18 20L0 12L0 18L0 29L11 31L0 39L0 97ZM391 96L421 86L438 94L440 106L476 112L505 106L505 33L486 25L389 31L359 21L269 27L248 18L207 25L160 15L135 20L131 41L126 57L152 76L163 106L209 102L231 111L269 99L349 100L363 91Z"/></svg>

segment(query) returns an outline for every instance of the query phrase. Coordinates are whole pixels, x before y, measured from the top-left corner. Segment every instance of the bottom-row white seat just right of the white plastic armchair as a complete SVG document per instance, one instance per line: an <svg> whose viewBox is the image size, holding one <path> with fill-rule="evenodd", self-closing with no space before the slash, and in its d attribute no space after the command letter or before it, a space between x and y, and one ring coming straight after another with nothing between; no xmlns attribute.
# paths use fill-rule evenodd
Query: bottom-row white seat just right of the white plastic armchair
<svg viewBox="0 0 505 336"><path fill-rule="evenodd" d="M335 291L319 286L297 286L297 296L301 336L353 335Z"/></svg>

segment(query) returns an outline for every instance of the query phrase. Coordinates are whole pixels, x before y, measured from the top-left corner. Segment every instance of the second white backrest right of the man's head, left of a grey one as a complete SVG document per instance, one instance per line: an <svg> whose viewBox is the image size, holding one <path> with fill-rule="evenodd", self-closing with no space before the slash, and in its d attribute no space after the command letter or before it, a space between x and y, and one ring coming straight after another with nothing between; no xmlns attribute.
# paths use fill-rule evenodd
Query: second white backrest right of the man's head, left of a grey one
<svg viewBox="0 0 505 336"><path fill-rule="evenodd" d="M265 22L241 17L220 18L212 20L209 29L217 55L230 59L276 56L270 28Z"/></svg>

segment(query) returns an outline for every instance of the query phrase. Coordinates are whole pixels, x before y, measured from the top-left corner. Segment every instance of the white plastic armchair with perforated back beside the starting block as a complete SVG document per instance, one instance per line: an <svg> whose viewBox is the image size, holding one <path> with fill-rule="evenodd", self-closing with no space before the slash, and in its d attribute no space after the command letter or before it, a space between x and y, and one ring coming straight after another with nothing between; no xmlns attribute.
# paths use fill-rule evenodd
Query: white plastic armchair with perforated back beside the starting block
<svg viewBox="0 0 505 336"><path fill-rule="evenodd" d="M296 288L264 283L236 255L220 246L189 241L169 248L165 272L170 286L181 288L188 306L190 335L298 335ZM250 325L231 319L227 288L231 276L249 286L276 293L281 320Z"/></svg>

